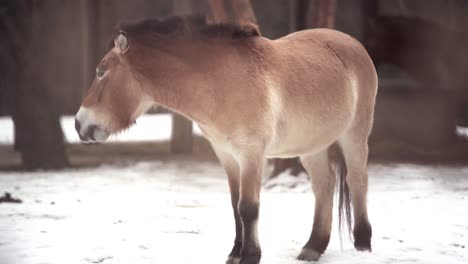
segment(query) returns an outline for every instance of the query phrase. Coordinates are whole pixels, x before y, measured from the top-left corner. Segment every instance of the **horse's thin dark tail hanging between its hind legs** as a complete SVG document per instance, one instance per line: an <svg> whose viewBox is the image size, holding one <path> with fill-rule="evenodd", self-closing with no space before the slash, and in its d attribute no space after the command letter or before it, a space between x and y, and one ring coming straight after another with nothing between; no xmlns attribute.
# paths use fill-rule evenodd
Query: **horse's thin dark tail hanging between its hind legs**
<svg viewBox="0 0 468 264"><path fill-rule="evenodd" d="M335 164L336 177L338 178L338 231L342 240L343 225L345 225L349 238L351 239L351 194L346 182L347 167L343 150L338 142L329 148L330 161Z"/></svg>

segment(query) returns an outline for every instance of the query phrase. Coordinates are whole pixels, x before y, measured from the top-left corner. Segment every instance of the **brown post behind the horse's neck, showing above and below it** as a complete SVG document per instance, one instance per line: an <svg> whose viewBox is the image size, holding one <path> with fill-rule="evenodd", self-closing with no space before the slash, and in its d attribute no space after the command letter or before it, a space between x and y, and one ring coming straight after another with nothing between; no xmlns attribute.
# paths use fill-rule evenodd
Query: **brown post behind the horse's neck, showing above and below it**
<svg viewBox="0 0 468 264"><path fill-rule="evenodd" d="M172 10L176 15L193 12L192 0L174 0ZM174 154L191 153L193 144L193 123L185 117L172 114L171 152Z"/></svg>

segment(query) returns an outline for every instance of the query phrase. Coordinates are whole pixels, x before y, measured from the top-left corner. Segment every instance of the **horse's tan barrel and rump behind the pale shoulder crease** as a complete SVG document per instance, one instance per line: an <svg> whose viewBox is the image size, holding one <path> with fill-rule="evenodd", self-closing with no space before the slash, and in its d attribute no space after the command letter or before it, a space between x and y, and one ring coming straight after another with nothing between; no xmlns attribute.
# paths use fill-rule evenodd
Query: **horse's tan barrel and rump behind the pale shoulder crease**
<svg viewBox="0 0 468 264"><path fill-rule="evenodd" d="M270 156L319 151L353 123L372 119L377 77L357 40L338 31L313 29L272 44L277 64L268 77L275 84L269 89L281 98L282 107ZM370 129L372 121L367 123Z"/></svg>

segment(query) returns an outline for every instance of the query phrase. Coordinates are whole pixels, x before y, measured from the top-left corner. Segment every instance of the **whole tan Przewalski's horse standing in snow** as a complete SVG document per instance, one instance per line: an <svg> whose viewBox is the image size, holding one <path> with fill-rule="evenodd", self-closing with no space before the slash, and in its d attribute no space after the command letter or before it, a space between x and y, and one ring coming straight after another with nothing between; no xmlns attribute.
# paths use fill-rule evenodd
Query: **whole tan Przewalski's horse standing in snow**
<svg viewBox="0 0 468 264"><path fill-rule="evenodd" d="M196 122L228 175L236 223L228 263L260 261L265 159L299 156L316 200L312 234L298 259L317 260L330 239L335 163L340 219L350 221L351 199L355 247L371 249L367 138L376 91L365 49L337 31L269 40L252 25L208 25L196 16L148 19L118 27L76 129L83 141L104 141L155 104Z"/></svg>

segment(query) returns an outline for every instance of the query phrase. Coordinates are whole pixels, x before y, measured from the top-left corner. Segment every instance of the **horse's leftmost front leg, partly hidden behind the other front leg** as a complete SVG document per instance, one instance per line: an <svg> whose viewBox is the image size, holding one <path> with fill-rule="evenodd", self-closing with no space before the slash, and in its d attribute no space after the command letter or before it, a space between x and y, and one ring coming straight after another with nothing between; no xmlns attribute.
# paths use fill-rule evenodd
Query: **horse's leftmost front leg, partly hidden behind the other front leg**
<svg viewBox="0 0 468 264"><path fill-rule="evenodd" d="M229 190L231 192L231 204L234 211L234 221L236 223L236 238L234 239L234 247L229 254L226 264L239 264L240 252L242 248L242 222L237 210L239 204L239 164L230 154L227 154L214 147L216 156L218 156L221 165L226 170L229 182Z"/></svg>

